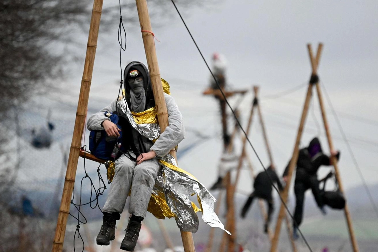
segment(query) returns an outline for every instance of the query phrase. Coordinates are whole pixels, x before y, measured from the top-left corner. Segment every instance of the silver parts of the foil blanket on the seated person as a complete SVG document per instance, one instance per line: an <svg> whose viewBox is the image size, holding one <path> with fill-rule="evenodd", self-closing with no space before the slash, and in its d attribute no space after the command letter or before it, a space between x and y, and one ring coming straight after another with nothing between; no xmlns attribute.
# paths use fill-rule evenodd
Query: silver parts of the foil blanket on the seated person
<svg viewBox="0 0 378 252"><path fill-rule="evenodd" d="M124 99L120 99L118 109L129 120L130 124L141 135L156 140L160 135L158 123L137 124ZM162 168L156 177L152 194L159 195L163 192L167 205L175 214L177 226L184 232L197 232L198 216L192 205L191 196L198 195L202 210L202 219L211 227L219 227L225 230L222 222L214 212L216 199L194 176L177 167L173 156L167 154L160 160ZM230 234L227 230L225 230Z"/></svg>

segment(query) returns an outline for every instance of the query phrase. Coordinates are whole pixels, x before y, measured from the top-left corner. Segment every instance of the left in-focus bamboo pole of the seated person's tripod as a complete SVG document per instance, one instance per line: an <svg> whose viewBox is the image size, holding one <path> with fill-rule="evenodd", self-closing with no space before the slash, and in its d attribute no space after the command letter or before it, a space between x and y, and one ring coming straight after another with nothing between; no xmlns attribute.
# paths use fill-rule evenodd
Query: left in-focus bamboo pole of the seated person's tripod
<svg viewBox="0 0 378 252"><path fill-rule="evenodd" d="M92 81L93 65L95 62L98 31L100 26L103 0L95 0L93 3L91 23L88 35L87 53L85 55L83 78L77 103L75 126L72 136L70 155L68 157L67 172L64 180L62 200L60 202L58 221L55 231L53 252L63 250L65 230L67 226L68 213L70 211L71 195L75 183L77 162L79 159L80 144L87 115L89 90Z"/></svg>

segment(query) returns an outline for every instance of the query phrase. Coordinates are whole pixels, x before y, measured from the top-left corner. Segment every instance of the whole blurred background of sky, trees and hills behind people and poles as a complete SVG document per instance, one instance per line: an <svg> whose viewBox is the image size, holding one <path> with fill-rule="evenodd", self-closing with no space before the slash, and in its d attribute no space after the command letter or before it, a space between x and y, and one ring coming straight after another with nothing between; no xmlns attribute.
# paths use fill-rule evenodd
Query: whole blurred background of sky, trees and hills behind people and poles
<svg viewBox="0 0 378 252"><path fill-rule="evenodd" d="M184 118L186 139L178 151L181 168L192 173L207 188L218 177L222 155L222 125L218 101L202 92L209 87L210 73L170 1L147 1L161 77L171 87ZM341 152L339 170L347 204L361 251L376 251L378 245L378 14L375 1L176 1L206 61L211 65L217 52L226 58L228 89L248 89L239 105L240 120L246 127L253 99L253 85L260 86L260 106L266 124L277 173L282 174L291 158L303 108L311 64L307 43L316 50L324 43L318 74L323 90L349 141L349 152L330 104L325 100L330 131ZM0 3L0 251L50 251L64 184L73 134L91 8L89 0L5 0ZM122 51L122 68L130 61L146 64L135 2L121 0L122 20L127 35ZM119 2L105 1L90 90L88 115L114 100L121 81L118 42ZM123 45L125 37L122 35ZM147 65L147 64L146 64ZM233 106L239 96L229 99ZM229 128L234 121L228 111ZM265 166L269 165L262 129L254 118L249 138ZM89 131L84 144L88 143ZM318 136L329 153L317 99L311 102L301 146ZM240 147L236 140L235 149ZM182 150L180 153L180 149ZM240 148L239 148L240 149ZM247 152L255 172L263 170L252 148ZM65 251L119 251L96 247L95 237L102 213L96 208L96 190L104 185L106 169L79 159L73 202L92 201L82 207L79 219L68 219ZM361 170L359 173L358 169ZM330 168L322 168L323 177ZM364 180L362 180L363 178ZM91 181L93 186L91 185ZM364 184L366 182L366 184ZM237 215L252 191L247 168L237 188ZM293 184L293 183L292 183ZM332 183L328 185L332 188ZM366 187L372 193L369 198ZM81 192L81 193L80 193ZM98 198L102 208L107 190ZM217 198L218 192L214 192ZM276 211L279 199L275 195ZM329 208L321 215L310 193L306 194L305 218L301 230L313 251L352 251L342 211ZM91 198L92 196L92 198ZM95 199L95 200L94 200ZM294 208L290 190L289 208ZM224 200L223 200L224 202ZM126 206L127 207L127 206ZM94 208L94 209L92 209ZM245 251L269 251L263 220L256 204L246 221L237 222L237 243ZM127 209L127 208L125 208ZM222 212L223 211L223 212ZM78 216L71 207L71 214ZM225 210L220 219L225 223ZM127 215L125 210L124 215ZM200 213L199 213L200 215ZM84 221L84 216L86 221ZM128 216L124 222L127 223ZM239 218L239 217L238 217ZM158 222L152 215L144 221L145 237L138 249L166 249ZM164 220L174 246L181 245L173 219ZM276 222L273 218L272 227ZM127 224L119 222L121 233ZM194 234L196 251L205 251L210 227L200 219ZM223 233L215 230L214 244ZM75 238L74 238L75 237ZM297 242L299 251L308 251ZM286 232L281 232L280 251L291 251ZM180 248L176 248L177 251ZM214 245L213 251L217 250Z"/></svg>

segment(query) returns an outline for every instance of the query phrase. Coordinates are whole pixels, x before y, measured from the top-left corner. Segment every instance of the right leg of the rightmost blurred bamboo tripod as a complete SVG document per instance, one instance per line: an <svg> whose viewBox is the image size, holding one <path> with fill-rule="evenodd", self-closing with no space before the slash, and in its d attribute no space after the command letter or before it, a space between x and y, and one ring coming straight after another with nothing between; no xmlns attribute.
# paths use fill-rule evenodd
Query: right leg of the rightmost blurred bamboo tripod
<svg viewBox="0 0 378 252"><path fill-rule="evenodd" d="M321 112L322 112L322 118L323 118L325 133L327 135L328 145L329 145L329 148L330 148L330 152L332 153L332 151L334 150L333 142L332 142L332 138L331 138L330 129L328 127L327 115L325 114L325 107L324 107L322 93L321 93L319 83L316 83L316 91L318 93L319 104L320 104L320 109L321 109ZM342 183L341 183L341 176L340 176L340 172L339 172L339 168L338 168L338 163L337 163L335 156L333 156L333 155L331 156L331 163L333 164L333 166L335 168L335 176L336 176L337 182L339 184L339 189L340 189L341 193L344 194L344 188L343 188ZM355 236L355 233L354 233L354 230L353 230L352 218L350 216L349 208L348 208L348 205L346 203L345 203L345 207L344 207L344 213L345 213L345 218L347 219L349 236L350 236L350 241L352 243L353 251L358 252L359 249L358 249L356 236Z"/></svg>

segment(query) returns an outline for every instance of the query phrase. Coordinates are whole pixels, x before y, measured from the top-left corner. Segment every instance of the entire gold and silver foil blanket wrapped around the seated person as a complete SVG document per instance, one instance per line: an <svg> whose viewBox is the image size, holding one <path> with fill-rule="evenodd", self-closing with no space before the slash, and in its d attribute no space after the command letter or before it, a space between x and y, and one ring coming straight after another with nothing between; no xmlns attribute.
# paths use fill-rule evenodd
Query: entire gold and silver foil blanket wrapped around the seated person
<svg viewBox="0 0 378 252"><path fill-rule="evenodd" d="M169 84L162 79L163 90L169 93ZM140 134L155 141L160 135L156 108L144 112L131 112L127 103L120 97L118 109L125 115L134 129ZM198 216L196 212L202 212L202 219L211 227L219 227L225 230L222 222L214 212L216 199L192 174L177 167L176 160L167 154L159 160L161 169L155 180L148 211L156 218L174 217L177 226L184 232L197 232ZM114 176L114 163L108 164L108 179L112 181ZM199 209L191 200L197 194ZM225 230L229 233L227 230Z"/></svg>

